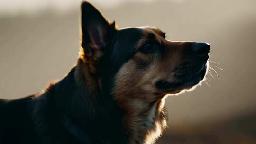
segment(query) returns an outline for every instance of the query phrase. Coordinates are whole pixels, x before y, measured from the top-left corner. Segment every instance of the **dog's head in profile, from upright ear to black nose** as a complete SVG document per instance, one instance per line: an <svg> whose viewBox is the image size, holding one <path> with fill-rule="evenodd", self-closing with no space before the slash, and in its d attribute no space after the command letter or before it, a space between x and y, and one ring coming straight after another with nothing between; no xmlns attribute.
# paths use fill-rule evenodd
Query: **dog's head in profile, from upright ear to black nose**
<svg viewBox="0 0 256 144"><path fill-rule="evenodd" d="M118 102L151 103L190 90L204 79L209 44L169 41L155 27L117 29L90 3L83 2L81 8L80 58Z"/></svg>

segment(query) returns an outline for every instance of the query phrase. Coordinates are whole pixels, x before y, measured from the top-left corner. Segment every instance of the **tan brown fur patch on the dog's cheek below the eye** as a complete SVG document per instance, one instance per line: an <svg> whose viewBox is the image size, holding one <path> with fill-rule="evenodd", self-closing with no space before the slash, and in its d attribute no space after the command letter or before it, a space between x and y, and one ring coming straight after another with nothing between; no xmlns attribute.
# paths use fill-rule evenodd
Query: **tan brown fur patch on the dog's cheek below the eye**
<svg viewBox="0 0 256 144"><path fill-rule="evenodd" d="M151 103L155 100L155 86L152 79L155 77L154 65L150 64L151 59L143 54L136 54L134 58L125 63L115 77L115 86L113 90L114 99L118 103L127 103L131 98L139 98ZM141 64L144 67L140 66ZM145 64L147 64L145 66ZM124 99L125 97L125 99Z"/></svg>

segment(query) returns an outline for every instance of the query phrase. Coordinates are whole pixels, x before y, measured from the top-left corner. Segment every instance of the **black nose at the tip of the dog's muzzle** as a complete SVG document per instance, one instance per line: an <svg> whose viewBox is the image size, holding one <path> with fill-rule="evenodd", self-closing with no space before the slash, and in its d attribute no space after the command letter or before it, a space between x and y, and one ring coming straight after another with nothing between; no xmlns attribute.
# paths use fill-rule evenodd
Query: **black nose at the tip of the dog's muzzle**
<svg viewBox="0 0 256 144"><path fill-rule="evenodd" d="M195 42L192 44L191 48L198 56L205 56L210 52L210 45L204 42Z"/></svg>

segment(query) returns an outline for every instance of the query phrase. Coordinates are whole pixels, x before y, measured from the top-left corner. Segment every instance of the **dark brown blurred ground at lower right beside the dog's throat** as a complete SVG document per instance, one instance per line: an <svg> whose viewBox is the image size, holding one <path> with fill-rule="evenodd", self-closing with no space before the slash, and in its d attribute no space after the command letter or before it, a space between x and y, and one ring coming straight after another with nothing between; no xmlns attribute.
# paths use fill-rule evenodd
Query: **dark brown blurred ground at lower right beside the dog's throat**
<svg viewBox="0 0 256 144"><path fill-rule="evenodd" d="M256 144L256 111L224 121L169 127L157 144Z"/></svg>

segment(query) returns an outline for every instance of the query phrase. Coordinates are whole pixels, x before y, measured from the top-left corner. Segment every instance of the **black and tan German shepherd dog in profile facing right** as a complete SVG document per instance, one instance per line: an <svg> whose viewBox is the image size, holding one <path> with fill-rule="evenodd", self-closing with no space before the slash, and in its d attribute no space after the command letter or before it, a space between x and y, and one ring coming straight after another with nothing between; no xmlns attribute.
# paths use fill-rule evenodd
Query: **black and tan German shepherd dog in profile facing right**
<svg viewBox="0 0 256 144"><path fill-rule="evenodd" d="M81 34L62 80L0 100L0 144L154 144L166 95L193 89L208 70L209 44L169 41L155 27L118 29L86 1Z"/></svg>

